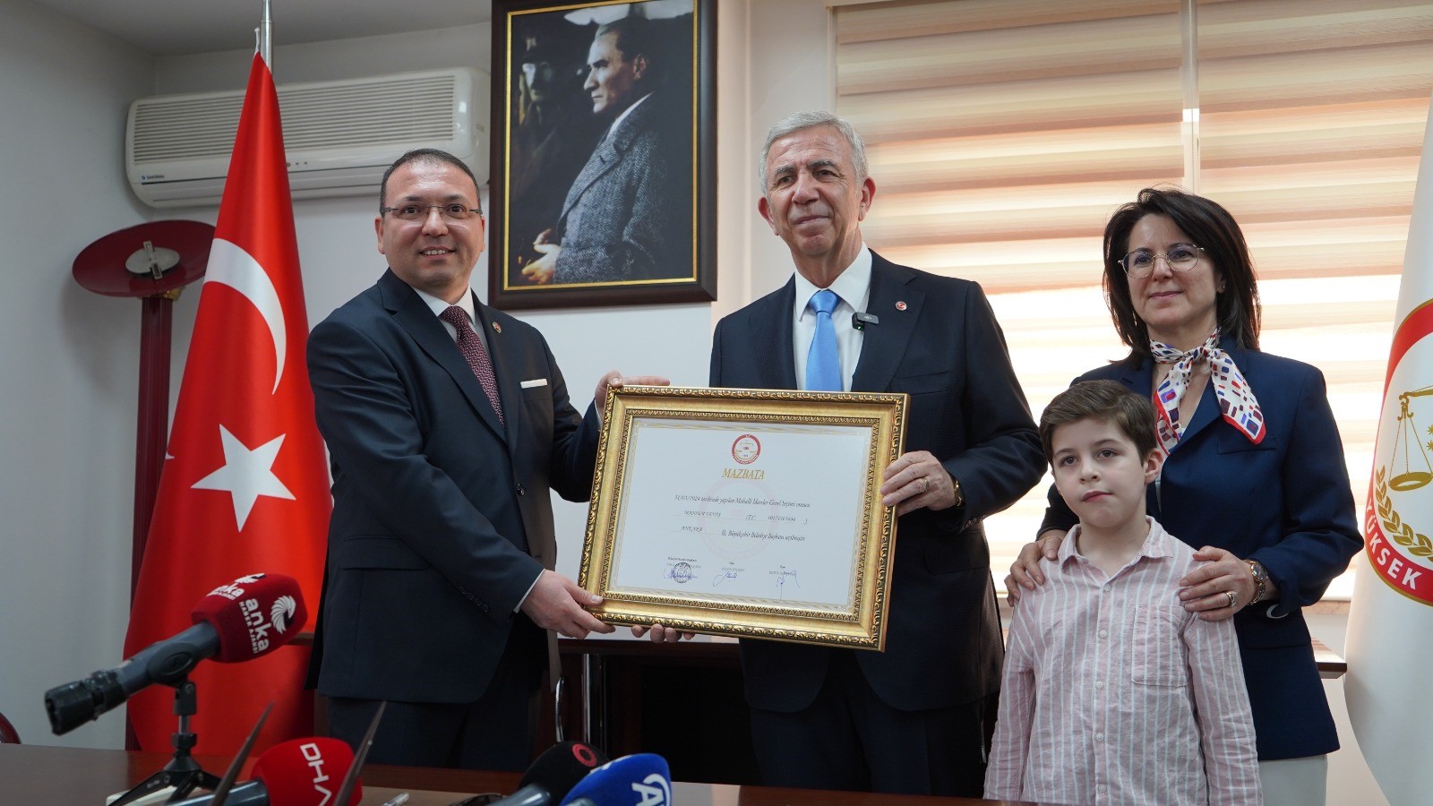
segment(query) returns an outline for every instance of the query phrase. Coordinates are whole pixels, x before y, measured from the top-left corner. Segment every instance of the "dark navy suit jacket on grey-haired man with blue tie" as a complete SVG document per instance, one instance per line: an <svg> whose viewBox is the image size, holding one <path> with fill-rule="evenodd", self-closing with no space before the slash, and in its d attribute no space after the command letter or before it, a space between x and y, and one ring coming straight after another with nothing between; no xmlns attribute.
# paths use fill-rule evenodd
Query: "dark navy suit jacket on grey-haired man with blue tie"
<svg viewBox="0 0 1433 806"><path fill-rule="evenodd" d="M871 258L867 311L880 324L866 327L851 389L910 394L904 450L939 457L960 480L966 505L900 518L886 651L845 651L891 707L940 708L1000 688L1005 648L980 522L1035 486L1045 459L980 287L896 265L876 252ZM712 340L711 384L797 389L794 304L792 278L722 318ZM833 651L742 640L747 701L774 711L804 708L820 691Z"/></svg>

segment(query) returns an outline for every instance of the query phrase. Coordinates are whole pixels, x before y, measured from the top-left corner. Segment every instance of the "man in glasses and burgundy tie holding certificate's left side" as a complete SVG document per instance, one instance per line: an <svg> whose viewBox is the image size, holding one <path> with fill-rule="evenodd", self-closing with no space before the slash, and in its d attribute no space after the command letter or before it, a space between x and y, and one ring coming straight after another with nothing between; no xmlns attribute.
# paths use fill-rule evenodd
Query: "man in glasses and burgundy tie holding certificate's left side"
<svg viewBox="0 0 1433 806"><path fill-rule="evenodd" d="M483 215L461 161L406 153L380 205L390 270L308 340L334 475L310 680L351 744L388 701L374 762L522 770L549 631L612 631L552 571L549 489L588 499L596 406L620 377L579 416L542 334L476 300Z"/></svg>

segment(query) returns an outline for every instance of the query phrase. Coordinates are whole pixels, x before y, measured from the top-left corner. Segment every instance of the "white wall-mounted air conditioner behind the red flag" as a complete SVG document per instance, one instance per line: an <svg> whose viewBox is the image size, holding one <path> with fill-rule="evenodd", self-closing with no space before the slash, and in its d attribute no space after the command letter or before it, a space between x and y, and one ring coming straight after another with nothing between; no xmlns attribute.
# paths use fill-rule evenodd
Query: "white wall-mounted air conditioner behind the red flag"
<svg viewBox="0 0 1433 806"><path fill-rule="evenodd" d="M413 148L457 155L487 182L487 73L461 67L281 85L294 198L377 194ZM244 92L142 98L129 106L125 171L150 207L218 204Z"/></svg>

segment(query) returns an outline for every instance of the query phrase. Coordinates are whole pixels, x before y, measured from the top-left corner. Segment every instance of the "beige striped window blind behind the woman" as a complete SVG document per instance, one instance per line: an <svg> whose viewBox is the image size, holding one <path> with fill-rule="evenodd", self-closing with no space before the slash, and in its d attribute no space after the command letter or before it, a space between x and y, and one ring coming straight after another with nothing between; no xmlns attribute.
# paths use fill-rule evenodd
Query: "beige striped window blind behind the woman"
<svg viewBox="0 0 1433 806"><path fill-rule="evenodd" d="M907 0L838 7L834 36L835 112L877 186L867 242L984 287L1036 414L1126 353L1101 234L1139 188L1176 184L1244 227L1262 346L1323 369L1363 506L1433 6ZM1046 486L986 522L997 579Z"/></svg>

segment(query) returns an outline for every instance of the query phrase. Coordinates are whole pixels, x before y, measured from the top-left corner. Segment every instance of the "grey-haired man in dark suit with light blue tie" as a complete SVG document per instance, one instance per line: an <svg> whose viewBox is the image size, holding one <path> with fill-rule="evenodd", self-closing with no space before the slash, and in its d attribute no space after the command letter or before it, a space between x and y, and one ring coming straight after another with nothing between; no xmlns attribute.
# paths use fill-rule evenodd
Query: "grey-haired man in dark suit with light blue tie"
<svg viewBox="0 0 1433 806"><path fill-rule="evenodd" d="M820 387L808 300L830 290L838 389L910 394L907 453L881 488L900 515L886 651L742 640L762 779L979 797L1005 654L980 522L1043 473L1029 406L979 285L866 247L876 184L845 120L802 112L777 123L761 179L758 209L795 275L721 320L711 384ZM868 314L864 330L856 313Z"/></svg>

